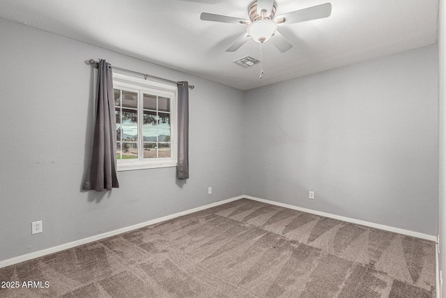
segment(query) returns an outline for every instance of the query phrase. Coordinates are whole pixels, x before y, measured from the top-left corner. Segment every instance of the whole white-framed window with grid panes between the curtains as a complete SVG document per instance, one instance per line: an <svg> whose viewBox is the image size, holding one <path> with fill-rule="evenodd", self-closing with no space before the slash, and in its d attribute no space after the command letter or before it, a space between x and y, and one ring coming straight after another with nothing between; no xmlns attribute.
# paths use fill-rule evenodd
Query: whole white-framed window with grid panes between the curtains
<svg viewBox="0 0 446 298"><path fill-rule="evenodd" d="M118 171L176 166L176 87L113 74Z"/></svg>

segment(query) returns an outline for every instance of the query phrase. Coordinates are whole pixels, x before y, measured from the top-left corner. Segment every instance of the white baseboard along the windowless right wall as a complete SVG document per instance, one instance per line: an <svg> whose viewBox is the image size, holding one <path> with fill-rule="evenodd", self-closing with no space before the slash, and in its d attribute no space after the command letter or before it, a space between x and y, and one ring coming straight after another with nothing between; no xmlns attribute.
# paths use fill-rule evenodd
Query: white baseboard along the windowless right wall
<svg viewBox="0 0 446 298"><path fill-rule="evenodd" d="M349 218L349 217L339 216L336 214L330 214L330 213L325 213L325 212L316 211L316 210L312 210L312 209L301 208L301 207L293 206L290 204L284 204L284 203L274 202L274 201L265 200L265 199L261 199L261 198L255 198L250 195L244 195L243 198L247 198L249 200L254 200L254 201L259 201L259 202L264 202L266 204L272 204L275 206L284 207L284 208L288 208L288 209L294 209L294 210L298 210L298 211L302 211L302 212L307 212L310 214L315 214L315 215L324 216L324 217L328 217L328 218L334 218L334 219L338 219L339 221L346 221L348 223L356 223L358 225L365 225L365 226L371 227L371 228L376 228L376 229L394 232L394 233L398 233L398 234L404 234L404 235L417 237L417 238L421 238L421 239L426 239L426 240L430 240L430 241L437 241L436 236L429 235L429 234L423 234L420 232L403 230L400 228L390 227L388 225L380 225L379 223L370 223L369 221L360 221L359 219L355 219L355 218Z"/></svg>

